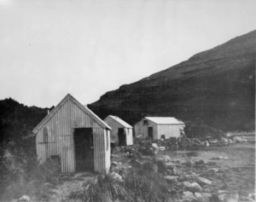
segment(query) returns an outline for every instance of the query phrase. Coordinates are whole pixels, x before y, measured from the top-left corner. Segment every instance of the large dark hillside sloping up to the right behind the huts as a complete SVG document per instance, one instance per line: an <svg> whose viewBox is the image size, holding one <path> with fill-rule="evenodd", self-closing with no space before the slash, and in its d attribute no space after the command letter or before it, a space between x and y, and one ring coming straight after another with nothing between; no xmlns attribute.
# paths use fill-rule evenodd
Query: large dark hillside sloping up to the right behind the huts
<svg viewBox="0 0 256 202"><path fill-rule="evenodd" d="M255 55L253 31L109 91L89 107L101 118L113 114L130 124L143 115L173 116L222 130L253 130Z"/></svg>

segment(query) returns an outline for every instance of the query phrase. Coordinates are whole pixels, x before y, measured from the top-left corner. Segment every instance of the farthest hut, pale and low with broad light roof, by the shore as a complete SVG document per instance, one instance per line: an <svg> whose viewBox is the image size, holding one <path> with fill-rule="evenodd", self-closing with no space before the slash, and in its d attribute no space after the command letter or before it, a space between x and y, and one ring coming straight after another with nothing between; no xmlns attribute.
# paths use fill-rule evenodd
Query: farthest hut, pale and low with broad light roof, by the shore
<svg viewBox="0 0 256 202"><path fill-rule="evenodd" d="M134 125L135 135L157 140L179 137L185 124L173 117L145 117Z"/></svg>

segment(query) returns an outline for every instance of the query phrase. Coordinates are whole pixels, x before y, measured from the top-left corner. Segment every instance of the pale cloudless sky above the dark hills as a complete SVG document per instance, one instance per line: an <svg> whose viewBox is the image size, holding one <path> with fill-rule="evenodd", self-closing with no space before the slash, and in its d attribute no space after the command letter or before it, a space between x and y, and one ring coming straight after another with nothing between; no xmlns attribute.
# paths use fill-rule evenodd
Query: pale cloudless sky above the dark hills
<svg viewBox="0 0 256 202"><path fill-rule="evenodd" d="M256 29L254 0L0 0L0 100L83 104Z"/></svg>

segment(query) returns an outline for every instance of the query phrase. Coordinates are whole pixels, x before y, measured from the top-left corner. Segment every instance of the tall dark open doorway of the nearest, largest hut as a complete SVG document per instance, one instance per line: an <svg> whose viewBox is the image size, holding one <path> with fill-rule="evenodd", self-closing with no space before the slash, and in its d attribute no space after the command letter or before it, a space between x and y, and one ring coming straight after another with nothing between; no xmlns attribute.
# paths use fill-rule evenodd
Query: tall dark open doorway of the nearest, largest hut
<svg viewBox="0 0 256 202"><path fill-rule="evenodd" d="M75 147L76 171L94 170L92 129L75 129L73 140Z"/></svg>

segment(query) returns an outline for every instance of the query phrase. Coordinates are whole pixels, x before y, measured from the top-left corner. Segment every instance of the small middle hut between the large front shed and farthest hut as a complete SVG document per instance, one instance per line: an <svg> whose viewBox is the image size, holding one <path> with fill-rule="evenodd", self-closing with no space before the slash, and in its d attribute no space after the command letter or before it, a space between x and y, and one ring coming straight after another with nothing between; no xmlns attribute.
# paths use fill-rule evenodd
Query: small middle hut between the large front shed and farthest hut
<svg viewBox="0 0 256 202"><path fill-rule="evenodd" d="M111 142L115 142L118 146L126 146L133 144L132 126L127 124L117 116L109 115L104 121L111 127Z"/></svg>

